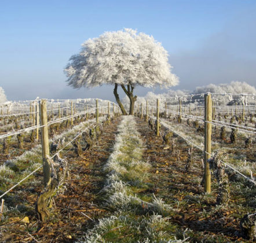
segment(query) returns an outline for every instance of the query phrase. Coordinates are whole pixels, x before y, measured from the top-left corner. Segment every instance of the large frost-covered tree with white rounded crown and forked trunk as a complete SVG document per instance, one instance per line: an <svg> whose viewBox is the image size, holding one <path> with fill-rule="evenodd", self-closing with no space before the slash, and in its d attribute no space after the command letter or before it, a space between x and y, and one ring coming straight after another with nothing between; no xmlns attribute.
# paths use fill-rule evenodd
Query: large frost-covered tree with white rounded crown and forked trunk
<svg viewBox="0 0 256 243"><path fill-rule="evenodd" d="M70 58L64 72L74 88L114 85L114 95L122 113L126 110L118 95L120 86L130 100L129 114L134 114L137 85L170 87L178 84L171 73L168 53L153 36L133 29L105 32L82 44L79 54Z"/></svg>

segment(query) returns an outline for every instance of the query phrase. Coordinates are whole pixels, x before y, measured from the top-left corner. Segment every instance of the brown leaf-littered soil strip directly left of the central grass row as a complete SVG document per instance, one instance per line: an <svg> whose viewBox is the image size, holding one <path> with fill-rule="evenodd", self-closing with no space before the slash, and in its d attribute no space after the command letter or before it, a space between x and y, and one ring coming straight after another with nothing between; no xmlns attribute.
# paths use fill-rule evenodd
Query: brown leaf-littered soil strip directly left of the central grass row
<svg viewBox="0 0 256 243"><path fill-rule="evenodd" d="M38 222L34 211L13 215L1 226L1 242L74 242L93 227L97 218L107 214L98 207L97 193L103 188L105 176L101 166L111 153L119 121L117 118L104 128L97 144L85 151L84 158L79 158L72 150L65 154L70 162L70 180L64 184L63 193L54 197L49 222ZM38 191L39 188L35 188L34 193L24 191L23 204L35 204ZM30 223L20 223L23 216L28 216Z"/></svg>

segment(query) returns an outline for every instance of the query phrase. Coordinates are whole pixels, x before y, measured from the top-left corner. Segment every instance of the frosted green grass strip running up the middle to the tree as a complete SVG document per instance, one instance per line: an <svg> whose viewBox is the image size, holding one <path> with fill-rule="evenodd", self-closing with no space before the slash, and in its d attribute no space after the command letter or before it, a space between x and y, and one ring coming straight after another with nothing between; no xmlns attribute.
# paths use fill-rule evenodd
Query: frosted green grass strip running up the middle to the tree
<svg viewBox="0 0 256 243"><path fill-rule="evenodd" d="M169 222L170 205L148 190L151 165L142 159L144 144L133 116L124 116L118 126L114 152L103 170L107 181L101 196L112 215L100 219L79 242L185 242L176 240ZM182 237L184 238L184 237Z"/></svg>

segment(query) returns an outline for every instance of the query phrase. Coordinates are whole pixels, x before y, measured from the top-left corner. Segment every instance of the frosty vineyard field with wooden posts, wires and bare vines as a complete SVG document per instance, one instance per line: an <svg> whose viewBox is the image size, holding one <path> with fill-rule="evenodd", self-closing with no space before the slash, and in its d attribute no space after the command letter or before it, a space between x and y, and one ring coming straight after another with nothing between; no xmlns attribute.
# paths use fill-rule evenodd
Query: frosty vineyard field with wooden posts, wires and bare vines
<svg viewBox="0 0 256 243"><path fill-rule="evenodd" d="M254 99L0 104L1 242L253 242Z"/></svg>

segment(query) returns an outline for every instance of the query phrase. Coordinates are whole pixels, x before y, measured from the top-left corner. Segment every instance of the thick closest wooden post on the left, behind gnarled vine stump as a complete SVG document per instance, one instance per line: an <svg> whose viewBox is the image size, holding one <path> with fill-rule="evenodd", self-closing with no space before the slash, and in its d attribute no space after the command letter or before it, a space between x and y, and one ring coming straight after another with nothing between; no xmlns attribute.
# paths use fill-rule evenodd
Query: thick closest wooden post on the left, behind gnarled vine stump
<svg viewBox="0 0 256 243"><path fill-rule="evenodd" d="M43 183L45 186L50 184L51 164L47 157L50 156L49 140L48 140L48 126L47 126L47 110L46 100L41 100L41 137L42 137L42 157L43 157Z"/></svg>

